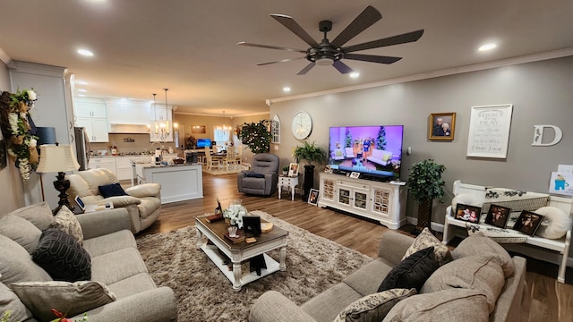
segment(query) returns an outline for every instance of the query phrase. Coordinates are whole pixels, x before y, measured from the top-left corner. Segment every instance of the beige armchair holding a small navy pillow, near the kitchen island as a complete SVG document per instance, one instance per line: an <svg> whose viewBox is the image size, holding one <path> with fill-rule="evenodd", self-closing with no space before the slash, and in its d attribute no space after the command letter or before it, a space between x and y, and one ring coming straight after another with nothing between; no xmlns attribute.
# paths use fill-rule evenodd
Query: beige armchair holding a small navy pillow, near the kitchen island
<svg viewBox="0 0 573 322"><path fill-rule="evenodd" d="M70 201L75 203L75 196L86 204L96 204L109 201L114 208L126 208L131 222L132 233L139 233L148 228L159 217L161 212L161 185L158 183L144 183L125 189L127 196L104 198L99 192L99 186L118 182L115 174L100 168L81 171L77 174L65 176L70 181Z"/></svg>

